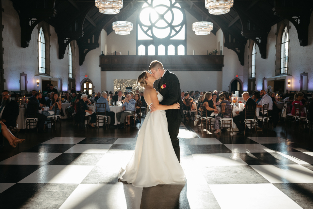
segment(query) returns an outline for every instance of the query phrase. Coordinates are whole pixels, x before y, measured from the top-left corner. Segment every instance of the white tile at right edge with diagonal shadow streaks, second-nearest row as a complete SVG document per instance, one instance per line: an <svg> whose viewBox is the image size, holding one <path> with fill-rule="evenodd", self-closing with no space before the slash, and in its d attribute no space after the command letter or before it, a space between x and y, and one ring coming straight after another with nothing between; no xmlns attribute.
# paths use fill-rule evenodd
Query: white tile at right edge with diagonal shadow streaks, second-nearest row
<svg viewBox="0 0 313 209"><path fill-rule="evenodd" d="M302 165L250 165L271 183L313 183L313 171Z"/></svg>

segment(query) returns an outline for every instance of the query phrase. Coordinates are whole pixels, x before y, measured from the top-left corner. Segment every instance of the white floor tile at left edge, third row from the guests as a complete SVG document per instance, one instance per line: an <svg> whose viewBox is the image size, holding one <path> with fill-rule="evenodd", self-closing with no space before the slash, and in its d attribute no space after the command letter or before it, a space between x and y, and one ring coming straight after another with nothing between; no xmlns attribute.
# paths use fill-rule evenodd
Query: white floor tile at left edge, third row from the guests
<svg viewBox="0 0 313 209"><path fill-rule="evenodd" d="M0 162L0 165L45 165L62 153L21 152Z"/></svg>

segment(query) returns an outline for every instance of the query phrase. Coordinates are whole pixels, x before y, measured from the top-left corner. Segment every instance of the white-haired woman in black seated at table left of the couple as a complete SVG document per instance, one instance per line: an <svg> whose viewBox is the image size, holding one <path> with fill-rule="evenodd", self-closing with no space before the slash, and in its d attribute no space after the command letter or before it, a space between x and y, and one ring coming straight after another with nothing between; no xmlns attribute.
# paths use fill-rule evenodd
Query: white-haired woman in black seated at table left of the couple
<svg viewBox="0 0 313 209"><path fill-rule="evenodd" d="M91 127L95 127L94 123L96 122L96 113L95 112L93 113L88 108L86 101L87 101L87 95L82 94L80 101L77 103L77 113L75 115L75 120L77 123L80 123L79 128L82 128L82 124L84 124L84 118L85 118L86 112L89 112L89 114L91 116L89 125Z"/></svg>

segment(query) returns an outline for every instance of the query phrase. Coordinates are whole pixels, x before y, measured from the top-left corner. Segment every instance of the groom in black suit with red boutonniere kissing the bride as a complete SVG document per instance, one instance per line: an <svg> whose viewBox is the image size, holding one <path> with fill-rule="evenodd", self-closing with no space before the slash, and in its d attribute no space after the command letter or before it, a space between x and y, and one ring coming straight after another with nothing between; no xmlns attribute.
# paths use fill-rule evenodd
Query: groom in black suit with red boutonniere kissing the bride
<svg viewBox="0 0 313 209"><path fill-rule="evenodd" d="M182 123L182 118L184 116L184 111L182 110L182 97L180 91L179 80L174 73L168 70L164 70L161 62L154 60L149 66L149 71L151 71L152 76L156 79L157 91L163 96L162 105L173 105L175 103L180 104L179 109L165 110L167 118L167 129L170 134L172 145L180 162L180 149L179 149L179 139L177 138L179 133L179 127ZM160 78L160 80L158 80ZM151 112L156 111L152 106Z"/></svg>

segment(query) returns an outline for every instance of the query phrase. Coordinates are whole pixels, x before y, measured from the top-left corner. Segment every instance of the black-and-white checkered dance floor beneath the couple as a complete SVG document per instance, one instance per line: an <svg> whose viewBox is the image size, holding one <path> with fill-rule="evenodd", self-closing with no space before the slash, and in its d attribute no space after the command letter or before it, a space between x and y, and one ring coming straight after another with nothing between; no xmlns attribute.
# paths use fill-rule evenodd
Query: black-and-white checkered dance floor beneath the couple
<svg viewBox="0 0 313 209"><path fill-rule="evenodd" d="M313 208L313 150L279 137L186 138L198 136L184 126L179 137L186 184L119 182L136 138L52 138L0 162L0 207Z"/></svg>

